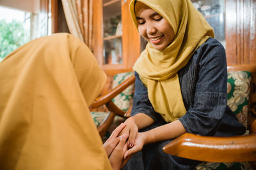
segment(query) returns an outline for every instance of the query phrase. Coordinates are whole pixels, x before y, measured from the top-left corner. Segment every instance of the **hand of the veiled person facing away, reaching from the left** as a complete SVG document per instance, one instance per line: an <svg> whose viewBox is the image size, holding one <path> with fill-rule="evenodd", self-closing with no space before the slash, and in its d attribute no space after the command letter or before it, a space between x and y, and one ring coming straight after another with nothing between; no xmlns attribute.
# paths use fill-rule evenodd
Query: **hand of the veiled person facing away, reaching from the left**
<svg viewBox="0 0 256 170"><path fill-rule="evenodd" d="M117 138L117 136L124 129L125 126L126 125L122 123L118 127L116 127L116 129L112 132L112 134L108 138L108 140L103 144L108 157L109 157L109 155L111 155L111 153L113 152L116 145L118 145L118 142L120 141L120 138Z"/></svg>

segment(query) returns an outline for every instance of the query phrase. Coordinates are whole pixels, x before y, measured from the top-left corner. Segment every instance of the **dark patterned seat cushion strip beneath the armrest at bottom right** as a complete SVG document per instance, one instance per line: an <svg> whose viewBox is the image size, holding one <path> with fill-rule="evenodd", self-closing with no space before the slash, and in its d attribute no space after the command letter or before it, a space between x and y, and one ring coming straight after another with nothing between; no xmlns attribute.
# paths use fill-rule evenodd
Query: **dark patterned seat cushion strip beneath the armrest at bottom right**
<svg viewBox="0 0 256 170"><path fill-rule="evenodd" d="M218 162L202 162L195 168L196 170L210 170L210 169L232 169L232 170L253 170L247 162L232 162L232 163L218 163Z"/></svg>

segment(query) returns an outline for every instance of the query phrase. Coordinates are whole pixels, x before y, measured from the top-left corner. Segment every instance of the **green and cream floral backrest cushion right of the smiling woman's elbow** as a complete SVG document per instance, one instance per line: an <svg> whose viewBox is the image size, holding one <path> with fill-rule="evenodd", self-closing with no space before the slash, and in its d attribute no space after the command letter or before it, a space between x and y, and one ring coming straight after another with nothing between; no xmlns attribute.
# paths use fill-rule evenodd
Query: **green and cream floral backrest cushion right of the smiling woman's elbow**
<svg viewBox="0 0 256 170"><path fill-rule="evenodd" d="M228 71L227 104L245 127L247 127L250 81L251 73L248 71Z"/></svg>

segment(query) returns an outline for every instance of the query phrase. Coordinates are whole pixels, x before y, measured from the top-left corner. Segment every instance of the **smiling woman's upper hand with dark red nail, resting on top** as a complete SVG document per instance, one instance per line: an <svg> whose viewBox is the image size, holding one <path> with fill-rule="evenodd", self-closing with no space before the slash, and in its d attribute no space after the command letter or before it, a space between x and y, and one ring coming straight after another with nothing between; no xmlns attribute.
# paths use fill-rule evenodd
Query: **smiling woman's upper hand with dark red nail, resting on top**
<svg viewBox="0 0 256 170"><path fill-rule="evenodd" d="M124 124L126 125L126 127L122 130L122 132L120 132L120 135L125 134L129 136L127 146L129 148L132 148L132 146L134 145L135 138L138 134L138 126L136 125L133 117L127 118Z"/></svg>

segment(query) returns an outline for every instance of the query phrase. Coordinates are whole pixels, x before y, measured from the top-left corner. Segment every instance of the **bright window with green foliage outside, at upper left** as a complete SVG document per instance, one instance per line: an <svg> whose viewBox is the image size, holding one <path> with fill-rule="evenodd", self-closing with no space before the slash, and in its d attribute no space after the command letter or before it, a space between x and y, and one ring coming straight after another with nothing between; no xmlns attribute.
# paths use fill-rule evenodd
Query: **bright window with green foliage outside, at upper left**
<svg viewBox="0 0 256 170"><path fill-rule="evenodd" d="M51 13L45 17L5 6L0 6L0 13L0 61L28 41L51 34Z"/></svg>

